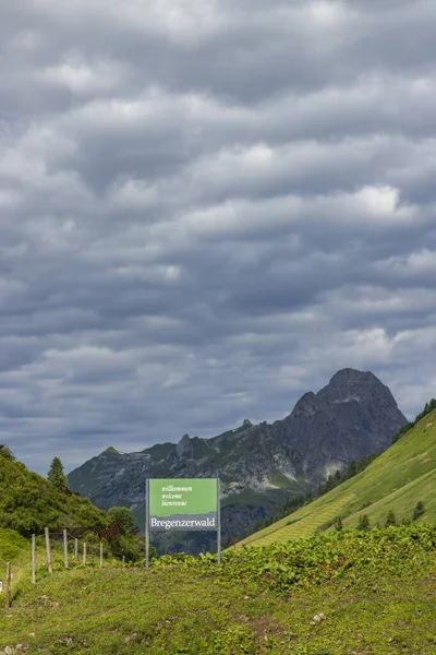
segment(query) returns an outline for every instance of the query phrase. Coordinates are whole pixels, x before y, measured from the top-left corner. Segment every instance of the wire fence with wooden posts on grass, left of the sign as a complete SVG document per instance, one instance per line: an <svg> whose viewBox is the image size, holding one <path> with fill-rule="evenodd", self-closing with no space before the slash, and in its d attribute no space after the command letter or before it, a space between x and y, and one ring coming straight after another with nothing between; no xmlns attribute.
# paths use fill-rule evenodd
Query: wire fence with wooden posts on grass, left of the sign
<svg viewBox="0 0 436 655"><path fill-rule="evenodd" d="M9 609L21 586L36 584L56 571L128 567L130 562L125 553L111 547L110 537L113 535L107 529L101 529L100 534L96 532L82 526L62 531L46 527L44 533L32 535L28 548L14 560L0 561L0 604L3 605L4 599Z"/></svg>

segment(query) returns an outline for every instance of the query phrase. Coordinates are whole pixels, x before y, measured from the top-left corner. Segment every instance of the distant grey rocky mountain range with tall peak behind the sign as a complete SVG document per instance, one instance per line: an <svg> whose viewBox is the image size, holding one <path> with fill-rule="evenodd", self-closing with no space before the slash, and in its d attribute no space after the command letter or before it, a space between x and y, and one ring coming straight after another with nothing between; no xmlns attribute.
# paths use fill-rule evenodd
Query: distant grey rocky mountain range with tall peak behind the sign
<svg viewBox="0 0 436 655"><path fill-rule="evenodd" d="M338 371L271 425L243 425L210 439L184 434L136 453L109 448L69 475L70 488L104 509L123 504L144 524L147 477L215 477L222 483L223 536L243 534L290 497L307 493L350 461L380 453L407 422L373 373Z"/></svg>

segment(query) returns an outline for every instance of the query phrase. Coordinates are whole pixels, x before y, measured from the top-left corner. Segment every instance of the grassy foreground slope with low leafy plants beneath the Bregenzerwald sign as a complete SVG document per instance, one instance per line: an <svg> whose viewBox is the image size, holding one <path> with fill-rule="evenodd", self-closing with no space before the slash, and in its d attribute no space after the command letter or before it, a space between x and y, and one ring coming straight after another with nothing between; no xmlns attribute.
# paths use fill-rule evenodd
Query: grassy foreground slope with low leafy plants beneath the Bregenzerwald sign
<svg viewBox="0 0 436 655"><path fill-rule="evenodd" d="M28 655L433 655L436 529L335 533L22 586L0 650ZM21 648L16 650L17 644Z"/></svg>

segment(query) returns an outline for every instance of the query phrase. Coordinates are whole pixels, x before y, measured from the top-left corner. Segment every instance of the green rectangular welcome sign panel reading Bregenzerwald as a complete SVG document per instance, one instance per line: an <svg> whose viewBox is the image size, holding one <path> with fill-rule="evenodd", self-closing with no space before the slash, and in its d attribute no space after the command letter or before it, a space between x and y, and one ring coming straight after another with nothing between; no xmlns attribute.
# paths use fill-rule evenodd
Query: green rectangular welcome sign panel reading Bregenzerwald
<svg viewBox="0 0 436 655"><path fill-rule="evenodd" d="M218 480L148 480L150 531L218 529Z"/></svg>

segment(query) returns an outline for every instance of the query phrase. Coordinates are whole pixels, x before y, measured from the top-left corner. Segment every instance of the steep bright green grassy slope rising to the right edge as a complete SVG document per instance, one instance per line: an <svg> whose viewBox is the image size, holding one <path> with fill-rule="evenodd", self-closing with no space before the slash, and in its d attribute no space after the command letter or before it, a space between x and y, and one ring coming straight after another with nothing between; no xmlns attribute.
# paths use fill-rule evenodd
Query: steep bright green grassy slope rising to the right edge
<svg viewBox="0 0 436 655"><path fill-rule="evenodd" d="M269 525L237 546L265 546L305 538L342 517L344 528L367 514L371 525L383 525L392 510L398 521L412 519L417 501L425 507L417 523L436 521L436 410L426 415L365 471L311 504Z"/></svg>

